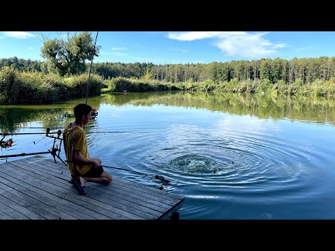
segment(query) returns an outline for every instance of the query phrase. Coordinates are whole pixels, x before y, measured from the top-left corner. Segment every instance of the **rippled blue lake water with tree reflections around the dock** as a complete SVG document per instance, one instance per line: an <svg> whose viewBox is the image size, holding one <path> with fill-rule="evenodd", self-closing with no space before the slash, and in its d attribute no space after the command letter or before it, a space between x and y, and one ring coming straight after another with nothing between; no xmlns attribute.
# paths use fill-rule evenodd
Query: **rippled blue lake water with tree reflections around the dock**
<svg viewBox="0 0 335 251"><path fill-rule="evenodd" d="M19 127L1 132L63 130L80 102L85 99L0 106L0 126ZM164 190L185 197L181 219L335 219L332 99L159 92L108 94L87 103L98 109L85 126L90 155L170 180ZM10 137L13 146L1 155L47 151L53 143L44 135ZM151 176L106 171L161 186Z"/></svg>

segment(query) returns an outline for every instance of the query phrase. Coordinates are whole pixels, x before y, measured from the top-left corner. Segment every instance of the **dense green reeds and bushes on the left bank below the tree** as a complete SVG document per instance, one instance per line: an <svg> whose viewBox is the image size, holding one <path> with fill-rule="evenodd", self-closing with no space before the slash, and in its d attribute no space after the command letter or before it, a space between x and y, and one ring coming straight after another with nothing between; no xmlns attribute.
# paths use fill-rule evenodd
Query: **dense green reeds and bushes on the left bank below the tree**
<svg viewBox="0 0 335 251"><path fill-rule="evenodd" d="M86 97L89 75L60 77L56 74L19 72L8 66L0 70L0 105L43 104ZM89 96L100 95L103 79L91 75Z"/></svg>

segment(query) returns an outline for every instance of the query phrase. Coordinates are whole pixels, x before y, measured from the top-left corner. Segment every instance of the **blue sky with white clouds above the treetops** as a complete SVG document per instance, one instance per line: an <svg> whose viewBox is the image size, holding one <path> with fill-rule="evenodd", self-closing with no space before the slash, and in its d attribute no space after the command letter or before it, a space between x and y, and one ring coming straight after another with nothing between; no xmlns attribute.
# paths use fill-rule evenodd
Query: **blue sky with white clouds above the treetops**
<svg viewBox="0 0 335 251"><path fill-rule="evenodd" d="M92 31L96 38L96 31ZM59 38L59 32L43 32ZM66 35L66 31L61 34ZM43 61L37 31L0 31L0 58ZM335 31L100 31L96 62L211 63L335 56Z"/></svg>

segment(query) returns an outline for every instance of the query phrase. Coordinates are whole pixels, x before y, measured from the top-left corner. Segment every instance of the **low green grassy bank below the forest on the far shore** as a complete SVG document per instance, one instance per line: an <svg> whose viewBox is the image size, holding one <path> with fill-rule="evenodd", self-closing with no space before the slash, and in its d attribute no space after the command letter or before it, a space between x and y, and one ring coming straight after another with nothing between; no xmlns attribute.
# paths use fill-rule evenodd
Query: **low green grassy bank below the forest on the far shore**
<svg viewBox="0 0 335 251"><path fill-rule="evenodd" d="M102 93L108 92L144 92L144 91L204 91L216 93L272 93L302 95L302 96L334 96L335 94L335 79L323 81L315 80L308 84L302 84L297 80L293 84L285 84L279 80L275 84L271 84L268 79L248 79L239 82L237 79L232 79L230 82L211 81L207 79L204 82L158 82L156 80L140 80L127 79L124 77L116 77L105 80L106 88L102 89Z"/></svg>

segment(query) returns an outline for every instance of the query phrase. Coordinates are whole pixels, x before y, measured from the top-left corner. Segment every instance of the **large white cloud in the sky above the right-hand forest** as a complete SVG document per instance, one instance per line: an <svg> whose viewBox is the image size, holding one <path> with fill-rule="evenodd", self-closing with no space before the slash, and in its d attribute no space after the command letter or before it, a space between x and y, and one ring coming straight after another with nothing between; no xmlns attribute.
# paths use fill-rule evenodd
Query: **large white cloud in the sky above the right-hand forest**
<svg viewBox="0 0 335 251"><path fill-rule="evenodd" d="M263 38L267 32L248 33L246 31L189 31L170 32L168 38L182 41L192 41L204 38L214 38L214 45L228 56L241 56L248 59L261 58L276 52L276 49L286 47L284 43L272 43Z"/></svg>

